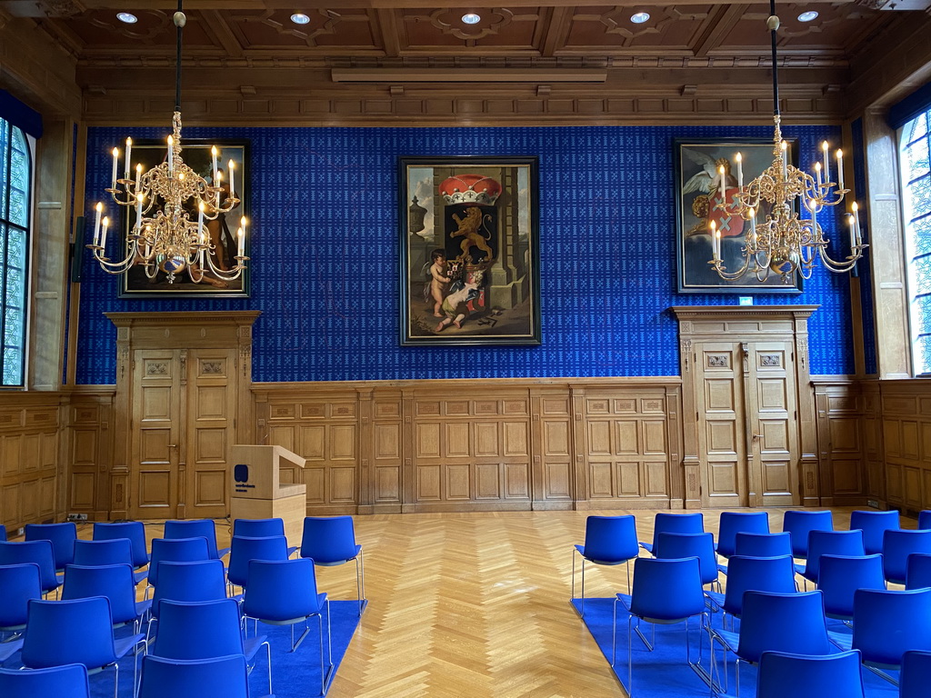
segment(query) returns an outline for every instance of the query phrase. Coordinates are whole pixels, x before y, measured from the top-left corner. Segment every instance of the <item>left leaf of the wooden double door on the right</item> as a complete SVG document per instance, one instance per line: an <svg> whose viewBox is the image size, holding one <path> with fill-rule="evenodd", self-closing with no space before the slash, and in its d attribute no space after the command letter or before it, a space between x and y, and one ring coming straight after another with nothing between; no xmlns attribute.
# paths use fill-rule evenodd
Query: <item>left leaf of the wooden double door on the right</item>
<svg viewBox="0 0 931 698"><path fill-rule="evenodd" d="M743 360L734 342L698 346L695 407L702 506L747 506Z"/></svg>

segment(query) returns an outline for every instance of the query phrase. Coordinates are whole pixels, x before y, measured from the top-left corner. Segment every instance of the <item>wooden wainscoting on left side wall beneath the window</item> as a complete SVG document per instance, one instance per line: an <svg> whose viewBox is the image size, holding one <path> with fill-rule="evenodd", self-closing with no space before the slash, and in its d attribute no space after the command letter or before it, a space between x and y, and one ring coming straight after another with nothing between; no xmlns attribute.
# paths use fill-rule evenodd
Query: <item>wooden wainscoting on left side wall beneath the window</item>
<svg viewBox="0 0 931 698"><path fill-rule="evenodd" d="M58 392L0 393L0 523L10 535L64 516L63 399Z"/></svg>

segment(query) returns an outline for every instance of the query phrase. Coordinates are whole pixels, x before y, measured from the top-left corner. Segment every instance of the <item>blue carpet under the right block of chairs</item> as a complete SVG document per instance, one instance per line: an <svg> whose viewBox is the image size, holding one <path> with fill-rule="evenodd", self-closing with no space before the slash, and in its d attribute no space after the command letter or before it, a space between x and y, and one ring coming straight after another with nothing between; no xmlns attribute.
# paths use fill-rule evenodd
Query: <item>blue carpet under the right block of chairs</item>
<svg viewBox="0 0 931 698"><path fill-rule="evenodd" d="M576 612L580 609L580 599L573 598L573 607ZM588 632L598 643L598 647L614 670L614 675L625 689L627 684L627 618L628 614L623 605L617 607L617 659L611 667L612 654L612 613L613 598L586 598L585 617ZM636 622L635 622L636 623ZM712 624L721 624L721 614L712 617ZM654 626L648 623L641 624L643 635L647 639L653 638ZM691 696L708 696L710 690L695 671L685 663L685 624L656 625L655 649L647 651L636 633L633 638L633 688L635 698L687 698ZM828 621L831 632L844 632L840 622ZM849 632L849 630L846 630ZM704 635L704 637L701 637ZM689 640L692 661L698 658L699 641L702 643L701 664L709 667L708 634L698 631L698 619L689 621ZM717 651L719 670L722 667L722 654L720 647ZM728 683L729 695L735 694L734 656L728 657ZM890 672L893 676L897 672ZM740 667L740 696L741 698L754 698L756 695L756 666L742 664ZM870 670L863 669L863 684L868 698L897 698L898 689L883 678L875 676Z"/></svg>

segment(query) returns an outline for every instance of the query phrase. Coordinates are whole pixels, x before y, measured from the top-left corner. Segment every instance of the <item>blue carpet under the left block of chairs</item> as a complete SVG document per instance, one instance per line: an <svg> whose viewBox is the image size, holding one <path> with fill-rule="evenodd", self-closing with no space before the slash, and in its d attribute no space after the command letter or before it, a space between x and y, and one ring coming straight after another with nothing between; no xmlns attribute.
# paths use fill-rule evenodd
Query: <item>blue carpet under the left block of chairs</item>
<svg viewBox="0 0 931 698"><path fill-rule="evenodd" d="M358 626L358 601L331 601L331 651L333 668L330 681L336 675L340 661L343 659L349 642ZM288 625L259 624L259 635L268 636L272 648L272 688L276 698L305 698L318 696L320 693L320 649L317 619L309 622L310 632L297 651L290 652L290 627ZM253 622L249 624L250 636L253 634ZM324 618L326 630L326 618ZM295 626L295 638L304 631L304 624ZM125 631L117 630L117 637ZM324 640L324 648L326 641ZM19 668L19 652L3 664L5 668ZM268 667L264 648L256 655L255 668L249 679L250 694L264 696L268 693ZM329 689L329 683L327 688ZM114 670L107 669L90 677L90 694L92 698L112 698L114 694ZM46 698L35 696L34 698ZM48 696L47 698L52 698ZM132 698L132 657L124 658L119 663L119 698ZM206 697L205 697L206 698Z"/></svg>

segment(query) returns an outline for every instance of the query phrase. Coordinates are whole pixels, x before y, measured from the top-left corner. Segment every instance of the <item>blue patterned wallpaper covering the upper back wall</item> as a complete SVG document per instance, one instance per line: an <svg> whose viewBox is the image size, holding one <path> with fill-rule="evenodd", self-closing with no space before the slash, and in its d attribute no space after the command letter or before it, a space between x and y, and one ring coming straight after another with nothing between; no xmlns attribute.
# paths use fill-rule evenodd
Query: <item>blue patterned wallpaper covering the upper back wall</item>
<svg viewBox="0 0 931 698"><path fill-rule="evenodd" d="M88 198L103 195L110 149L166 128L91 128ZM832 127L785 128L803 166ZM186 138L251 142L251 298L120 300L118 279L86 260L77 383L115 383L110 311L260 310L260 382L679 374L670 305L733 304L676 289L673 139L771 138L761 127L186 128ZM539 155L541 346L398 343L399 155ZM639 196L635 196L635 192ZM92 216L88 222L92 223ZM88 226L89 227L89 226ZM87 235L90 235L88 231ZM845 275L818 268L812 372L853 372Z"/></svg>

